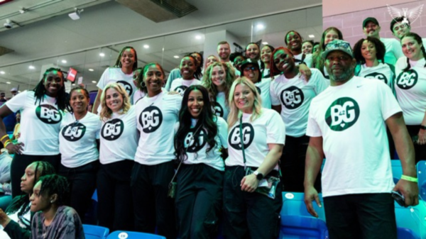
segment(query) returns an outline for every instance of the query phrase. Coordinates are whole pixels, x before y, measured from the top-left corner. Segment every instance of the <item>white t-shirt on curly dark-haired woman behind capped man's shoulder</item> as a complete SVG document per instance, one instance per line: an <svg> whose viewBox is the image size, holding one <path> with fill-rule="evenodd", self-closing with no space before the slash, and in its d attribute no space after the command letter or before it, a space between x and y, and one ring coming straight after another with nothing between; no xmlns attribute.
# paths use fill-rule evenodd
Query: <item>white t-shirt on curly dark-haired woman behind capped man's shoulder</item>
<svg viewBox="0 0 426 239"><path fill-rule="evenodd" d="M361 65L361 71L359 72L359 77L364 77L368 79L378 79L381 82L388 85L393 89L393 72L391 67L387 64L381 62L376 65L376 67L367 67L365 64Z"/></svg>

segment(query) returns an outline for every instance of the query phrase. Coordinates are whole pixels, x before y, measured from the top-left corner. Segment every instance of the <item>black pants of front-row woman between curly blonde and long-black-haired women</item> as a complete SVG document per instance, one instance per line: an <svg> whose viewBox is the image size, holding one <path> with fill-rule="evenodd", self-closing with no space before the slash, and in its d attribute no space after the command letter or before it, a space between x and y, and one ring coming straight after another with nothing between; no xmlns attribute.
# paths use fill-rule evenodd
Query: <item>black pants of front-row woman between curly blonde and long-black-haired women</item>
<svg viewBox="0 0 426 239"><path fill-rule="evenodd" d="M134 163L131 172L135 229L176 238L175 203L168 197L168 184L175 173L174 162L159 165Z"/></svg>

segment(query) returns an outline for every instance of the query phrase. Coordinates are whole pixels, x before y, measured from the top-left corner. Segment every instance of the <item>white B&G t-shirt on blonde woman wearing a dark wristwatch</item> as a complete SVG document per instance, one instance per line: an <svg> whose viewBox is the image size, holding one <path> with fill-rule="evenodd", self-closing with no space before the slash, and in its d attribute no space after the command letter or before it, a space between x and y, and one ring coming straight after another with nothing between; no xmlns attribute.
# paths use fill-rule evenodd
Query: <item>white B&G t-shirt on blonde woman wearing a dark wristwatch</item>
<svg viewBox="0 0 426 239"><path fill-rule="evenodd" d="M261 115L253 122L251 114L243 113L243 138L246 165L259 167L268 155L268 143L284 145L285 126L280 115L272 109L262 109ZM244 166L243 152L241 150L239 121L231 127L228 133L229 157L226 166ZM275 166L278 170L278 164Z"/></svg>

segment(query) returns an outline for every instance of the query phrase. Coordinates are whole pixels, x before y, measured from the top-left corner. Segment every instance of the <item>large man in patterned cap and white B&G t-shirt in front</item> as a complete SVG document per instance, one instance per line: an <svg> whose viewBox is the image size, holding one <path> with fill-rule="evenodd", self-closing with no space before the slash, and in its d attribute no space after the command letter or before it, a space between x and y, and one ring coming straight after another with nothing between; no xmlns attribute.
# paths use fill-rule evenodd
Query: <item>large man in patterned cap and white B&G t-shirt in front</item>
<svg viewBox="0 0 426 239"><path fill-rule="evenodd" d="M306 135L305 204L321 206L313 187L324 156L322 196L329 238L396 239L391 191L419 204L413 142L391 89L380 81L354 77L356 61L344 40L328 43L322 57L330 87L310 104ZM386 123L386 124L385 124ZM388 126L403 167L393 183Z"/></svg>

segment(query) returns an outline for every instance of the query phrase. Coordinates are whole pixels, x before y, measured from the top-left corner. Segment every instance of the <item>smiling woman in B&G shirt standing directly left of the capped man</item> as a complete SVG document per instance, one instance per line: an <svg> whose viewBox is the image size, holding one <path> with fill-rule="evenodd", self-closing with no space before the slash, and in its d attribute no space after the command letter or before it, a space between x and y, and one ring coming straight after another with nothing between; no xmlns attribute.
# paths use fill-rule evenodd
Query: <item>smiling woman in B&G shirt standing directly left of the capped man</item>
<svg viewBox="0 0 426 239"><path fill-rule="evenodd" d="M271 61L274 62L271 75L275 77L271 82L272 109L280 113L285 123L285 146L280 159L283 185L285 191L303 192L305 156L309 143L309 137L305 134L310 102L328 84L317 69L312 69L309 82L302 79L293 55L287 48L275 49ZM320 178L316 181L317 190L321 188Z"/></svg>

